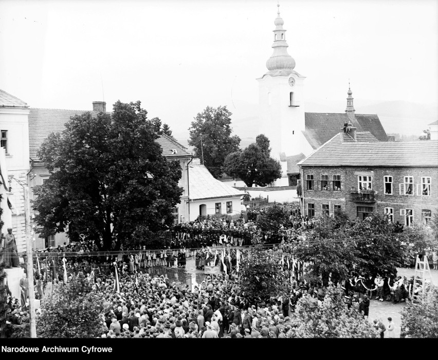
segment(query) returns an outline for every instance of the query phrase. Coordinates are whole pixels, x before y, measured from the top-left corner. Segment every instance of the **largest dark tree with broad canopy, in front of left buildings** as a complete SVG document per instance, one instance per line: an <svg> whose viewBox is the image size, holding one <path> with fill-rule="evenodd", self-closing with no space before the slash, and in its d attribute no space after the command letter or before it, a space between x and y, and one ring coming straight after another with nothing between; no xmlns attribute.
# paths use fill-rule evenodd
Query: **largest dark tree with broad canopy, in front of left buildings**
<svg viewBox="0 0 438 360"><path fill-rule="evenodd" d="M162 155L158 122L146 115L139 101L118 101L112 114L74 116L47 137L39 155L50 178L34 187L42 236L68 228L70 238L110 249L138 228L155 232L173 223L181 169Z"/></svg>

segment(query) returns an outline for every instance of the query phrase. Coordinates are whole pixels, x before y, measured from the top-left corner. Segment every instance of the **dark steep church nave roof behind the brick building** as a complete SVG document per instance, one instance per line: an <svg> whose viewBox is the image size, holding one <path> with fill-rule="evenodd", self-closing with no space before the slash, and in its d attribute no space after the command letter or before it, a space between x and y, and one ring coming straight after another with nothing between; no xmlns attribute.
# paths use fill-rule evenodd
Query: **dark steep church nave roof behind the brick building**
<svg viewBox="0 0 438 360"><path fill-rule="evenodd" d="M369 132L379 141L388 141L387 134L377 115L356 114L351 123L358 132ZM345 113L305 113L305 131L309 144L317 149L335 136L348 121Z"/></svg>

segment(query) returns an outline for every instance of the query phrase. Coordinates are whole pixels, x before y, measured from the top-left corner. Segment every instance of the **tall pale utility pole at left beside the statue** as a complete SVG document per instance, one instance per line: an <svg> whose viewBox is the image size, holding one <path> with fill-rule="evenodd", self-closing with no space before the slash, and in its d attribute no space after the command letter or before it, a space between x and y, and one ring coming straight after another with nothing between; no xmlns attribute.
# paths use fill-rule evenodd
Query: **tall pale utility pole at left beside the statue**
<svg viewBox="0 0 438 360"><path fill-rule="evenodd" d="M22 184L20 184L22 185ZM35 321L35 292L33 288L33 256L32 256L32 240L30 238L30 201L29 201L29 186L22 185L24 192L24 215L26 224L26 255L27 255L27 288L29 294L29 325L30 337L36 337L36 321Z"/></svg>

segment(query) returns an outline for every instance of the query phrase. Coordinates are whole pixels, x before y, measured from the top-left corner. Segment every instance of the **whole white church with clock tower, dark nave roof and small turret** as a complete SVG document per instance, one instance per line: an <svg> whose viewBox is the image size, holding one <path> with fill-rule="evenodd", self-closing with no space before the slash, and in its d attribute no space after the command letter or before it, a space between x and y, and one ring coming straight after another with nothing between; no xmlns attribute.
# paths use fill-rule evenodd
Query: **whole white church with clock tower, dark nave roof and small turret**
<svg viewBox="0 0 438 360"><path fill-rule="evenodd" d="M271 156L282 166L282 177L271 186L295 186L300 177L297 163L339 133L345 121L351 121L364 136L371 134L379 141L388 141L388 136L377 115L355 114L350 88L344 113L306 113L305 76L295 70L295 60L287 52L280 10L274 24L273 53L266 61L268 71L257 79L259 132L268 137Z"/></svg>

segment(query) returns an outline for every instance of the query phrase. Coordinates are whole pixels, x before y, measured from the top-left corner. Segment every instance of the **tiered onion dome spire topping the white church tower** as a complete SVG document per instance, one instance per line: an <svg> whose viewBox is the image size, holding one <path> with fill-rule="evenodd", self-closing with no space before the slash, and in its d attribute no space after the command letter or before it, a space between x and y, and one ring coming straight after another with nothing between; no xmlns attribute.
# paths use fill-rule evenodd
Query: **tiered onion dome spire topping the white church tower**
<svg viewBox="0 0 438 360"><path fill-rule="evenodd" d="M266 61L268 73L271 76L288 76L295 67L295 60L287 53L286 30L283 29L284 21L280 17L280 4L277 4L277 19L274 21L276 26L274 33L274 42L272 44L273 53Z"/></svg>

